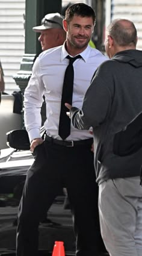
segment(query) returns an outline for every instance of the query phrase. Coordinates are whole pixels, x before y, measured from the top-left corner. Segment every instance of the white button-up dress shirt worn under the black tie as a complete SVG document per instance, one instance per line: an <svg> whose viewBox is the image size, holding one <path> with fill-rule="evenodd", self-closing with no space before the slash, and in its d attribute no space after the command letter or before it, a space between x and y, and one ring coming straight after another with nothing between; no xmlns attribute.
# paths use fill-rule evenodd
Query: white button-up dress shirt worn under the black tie
<svg viewBox="0 0 142 256"><path fill-rule="evenodd" d="M58 125L61 110L61 95L63 89L64 73L69 64L66 58L69 55L63 46L58 46L37 57L32 75L24 94L24 117L25 127L29 134L29 140L40 137L40 127L42 123L41 107L43 95L46 101L46 121L45 128L48 136L61 140L58 135ZM73 63L74 84L72 105L82 107L82 101L91 78L97 67L106 58L97 49L90 46L81 52L81 57ZM71 126L70 136L66 140L82 140L92 137L89 131L81 131Z"/></svg>

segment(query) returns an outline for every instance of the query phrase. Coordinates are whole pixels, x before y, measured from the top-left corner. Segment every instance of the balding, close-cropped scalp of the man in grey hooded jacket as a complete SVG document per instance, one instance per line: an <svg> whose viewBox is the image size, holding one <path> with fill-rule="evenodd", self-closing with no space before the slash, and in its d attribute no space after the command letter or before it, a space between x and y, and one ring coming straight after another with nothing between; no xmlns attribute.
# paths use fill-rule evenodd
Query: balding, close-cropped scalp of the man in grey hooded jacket
<svg viewBox="0 0 142 256"><path fill-rule="evenodd" d="M115 19L106 31L119 46L131 48L131 46L135 47L137 45L137 30L131 20Z"/></svg>

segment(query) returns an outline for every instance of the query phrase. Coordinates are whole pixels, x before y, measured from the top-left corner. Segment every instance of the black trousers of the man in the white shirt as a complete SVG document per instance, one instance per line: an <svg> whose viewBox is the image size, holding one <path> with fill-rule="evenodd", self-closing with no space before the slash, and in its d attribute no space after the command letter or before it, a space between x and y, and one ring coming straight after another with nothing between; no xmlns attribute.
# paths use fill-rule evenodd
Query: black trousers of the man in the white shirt
<svg viewBox="0 0 142 256"><path fill-rule="evenodd" d="M19 205L17 256L38 253L39 220L62 187L72 205L77 256L98 256L102 238L97 208L98 186L91 145L66 147L43 142L34 150Z"/></svg>

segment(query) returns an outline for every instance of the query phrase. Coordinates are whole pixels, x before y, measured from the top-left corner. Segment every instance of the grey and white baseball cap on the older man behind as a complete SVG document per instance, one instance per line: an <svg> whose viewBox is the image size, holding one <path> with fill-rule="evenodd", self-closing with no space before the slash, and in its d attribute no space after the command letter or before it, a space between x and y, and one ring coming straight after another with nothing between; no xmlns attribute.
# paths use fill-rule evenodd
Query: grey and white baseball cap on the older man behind
<svg viewBox="0 0 142 256"><path fill-rule="evenodd" d="M40 32L41 30L48 30L49 28L63 28L63 19L60 13L49 13L42 19L41 25L33 27L32 30Z"/></svg>

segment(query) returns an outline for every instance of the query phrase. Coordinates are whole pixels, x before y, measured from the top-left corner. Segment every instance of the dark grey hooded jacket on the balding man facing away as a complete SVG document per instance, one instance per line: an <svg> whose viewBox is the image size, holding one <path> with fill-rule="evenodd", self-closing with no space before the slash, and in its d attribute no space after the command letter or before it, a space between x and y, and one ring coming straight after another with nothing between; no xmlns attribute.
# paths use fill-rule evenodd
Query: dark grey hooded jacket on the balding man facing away
<svg viewBox="0 0 142 256"><path fill-rule="evenodd" d="M142 163L142 51L118 52L94 73L76 128L93 126L97 182L140 175Z"/></svg>

